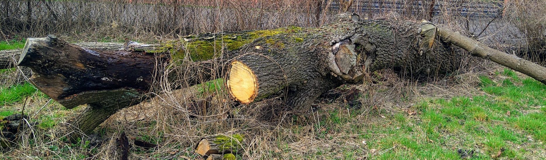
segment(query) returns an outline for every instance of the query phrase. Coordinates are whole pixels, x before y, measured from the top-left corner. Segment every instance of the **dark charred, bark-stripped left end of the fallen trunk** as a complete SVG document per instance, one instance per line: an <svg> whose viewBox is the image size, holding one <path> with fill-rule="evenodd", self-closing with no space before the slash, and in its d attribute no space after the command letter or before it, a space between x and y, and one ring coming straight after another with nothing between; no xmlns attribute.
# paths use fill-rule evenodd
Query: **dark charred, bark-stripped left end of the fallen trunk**
<svg viewBox="0 0 546 160"><path fill-rule="evenodd" d="M159 63L156 63L156 57L159 57ZM17 65L32 69L35 75L31 82L40 91L66 108L74 108L110 101L97 98L119 102L125 94L147 92L156 66L161 67L156 64L167 60L163 57L129 51L90 50L49 35L29 38Z"/></svg>

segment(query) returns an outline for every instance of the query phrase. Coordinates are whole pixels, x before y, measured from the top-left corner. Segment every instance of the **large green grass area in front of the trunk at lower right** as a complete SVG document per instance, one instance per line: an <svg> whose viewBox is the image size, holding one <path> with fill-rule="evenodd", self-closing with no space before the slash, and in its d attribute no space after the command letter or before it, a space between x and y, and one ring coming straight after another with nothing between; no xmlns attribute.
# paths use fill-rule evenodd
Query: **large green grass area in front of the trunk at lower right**
<svg viewBox="0 0 546 160"><path fill-rule="evenodd" d="M358 133L356 141L367 141L369 159L460 159L458 149L474 150L470 159L492 159L499 151L500 159L546 158L537 152L546 143L546 86L510 69L495 80L479 76L479 81L477 87L492 96L425 99L410 108L417 115L396 112L371 125L352 124L355 117L330 110L315 127L316 135L331 139L329 132ZM347 124L351 129L342 127ZM351 154L341 159L359 158L355 151L345 152Z"/></svg>

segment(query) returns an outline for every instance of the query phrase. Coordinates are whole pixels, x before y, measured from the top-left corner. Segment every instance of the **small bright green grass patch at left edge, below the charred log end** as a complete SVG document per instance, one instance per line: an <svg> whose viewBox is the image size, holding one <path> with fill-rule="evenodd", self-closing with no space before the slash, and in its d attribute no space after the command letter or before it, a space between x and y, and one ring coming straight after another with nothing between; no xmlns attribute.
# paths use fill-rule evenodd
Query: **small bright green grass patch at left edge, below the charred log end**
<svg viewBox="0 0 546 160"><path fill-rule="evenodd" d="M36 88L29 83L0 88L0 106L20 102L36 91Z"/></svg>

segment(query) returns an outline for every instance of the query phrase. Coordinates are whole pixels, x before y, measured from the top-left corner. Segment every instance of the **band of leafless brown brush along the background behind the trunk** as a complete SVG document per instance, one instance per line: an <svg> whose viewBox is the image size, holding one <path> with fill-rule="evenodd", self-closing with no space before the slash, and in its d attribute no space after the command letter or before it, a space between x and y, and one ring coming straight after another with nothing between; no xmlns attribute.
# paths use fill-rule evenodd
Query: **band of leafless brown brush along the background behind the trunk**
<svg viewBox="0 0 546 160"><path fill-rule="evenodd" d="M201 32L321 26L334 14L395 15L468 26L468 17L494 12L498 2L476 0L74 0L0 2L4 35L67 35L73 40L155 40ZM341 9L340 9L341 8ZM391 16L392 17L392 16Z"/></svg>

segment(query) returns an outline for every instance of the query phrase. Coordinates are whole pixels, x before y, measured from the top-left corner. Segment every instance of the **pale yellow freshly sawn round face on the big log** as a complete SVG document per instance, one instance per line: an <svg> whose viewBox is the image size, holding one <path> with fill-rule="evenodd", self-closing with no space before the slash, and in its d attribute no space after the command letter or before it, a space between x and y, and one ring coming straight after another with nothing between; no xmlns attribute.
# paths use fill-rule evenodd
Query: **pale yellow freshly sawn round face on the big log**
<svg viewBox="0 0 546 160"><path fill-rule="evenodd" d="M256 75L248 66L239 61L231 63L227 87L232 97L240 103L251 103L258 95Z"/></svg>

